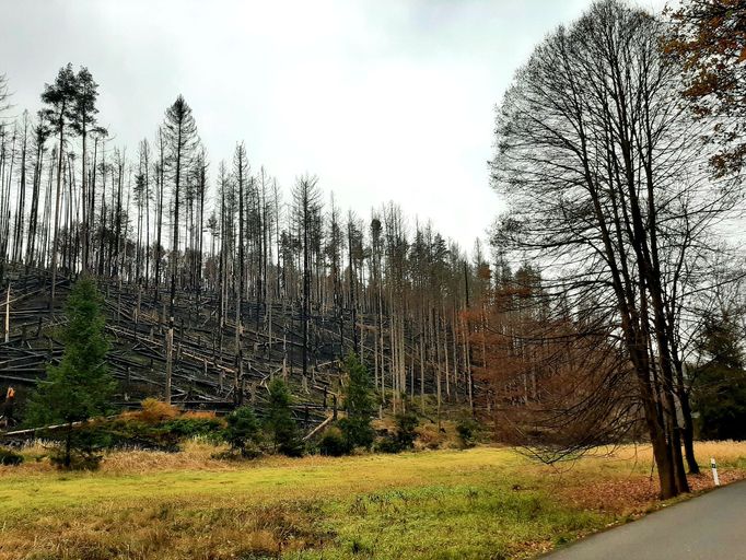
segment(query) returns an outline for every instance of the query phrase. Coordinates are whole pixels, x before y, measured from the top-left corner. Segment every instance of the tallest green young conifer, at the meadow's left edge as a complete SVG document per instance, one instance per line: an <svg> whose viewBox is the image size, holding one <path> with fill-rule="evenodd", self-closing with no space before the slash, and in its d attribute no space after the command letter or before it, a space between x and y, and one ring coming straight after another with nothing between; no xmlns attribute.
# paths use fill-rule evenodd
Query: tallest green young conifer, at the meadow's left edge
<svg viewBox="0 0 746 560"><path fill-rule="evenodd" d="M47 369L32 396L26 423L40 427L66 423L62 465L70 468L72 454L85 442L74 438L73 423L104 415L116 382L106 366L109 343L104 335L101 294L91 278L81 278L67 301L65 352L59 365Z"/></svg>

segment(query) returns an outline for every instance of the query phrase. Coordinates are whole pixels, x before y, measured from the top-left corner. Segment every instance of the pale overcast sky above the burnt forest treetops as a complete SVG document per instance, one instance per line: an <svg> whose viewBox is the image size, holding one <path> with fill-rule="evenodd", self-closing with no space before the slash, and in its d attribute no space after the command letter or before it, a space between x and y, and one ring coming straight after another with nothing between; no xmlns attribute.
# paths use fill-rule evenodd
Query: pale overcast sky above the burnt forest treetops
<svg viewBox="0 0 746 560"><path fill-rule="evenodd" d="M327 200L364 218L394 200L470 249L501 208L486 163L494 105L590 3L3 0L0 73L16 110L35 112L61 66L86 66L130 154L182 93L213 176L244 140L285 191L316 174Z"/></svg>

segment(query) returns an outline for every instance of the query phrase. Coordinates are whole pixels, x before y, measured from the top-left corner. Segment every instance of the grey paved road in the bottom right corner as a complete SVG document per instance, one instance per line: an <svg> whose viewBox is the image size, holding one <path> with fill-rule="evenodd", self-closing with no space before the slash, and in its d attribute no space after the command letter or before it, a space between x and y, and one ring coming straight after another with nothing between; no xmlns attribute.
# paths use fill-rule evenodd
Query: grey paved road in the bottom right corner
<svg viewBox="0 0 746 560"><path fill-rule="evenodd" d="M550 560L746 560L746 481L599 533Z"/></svg>

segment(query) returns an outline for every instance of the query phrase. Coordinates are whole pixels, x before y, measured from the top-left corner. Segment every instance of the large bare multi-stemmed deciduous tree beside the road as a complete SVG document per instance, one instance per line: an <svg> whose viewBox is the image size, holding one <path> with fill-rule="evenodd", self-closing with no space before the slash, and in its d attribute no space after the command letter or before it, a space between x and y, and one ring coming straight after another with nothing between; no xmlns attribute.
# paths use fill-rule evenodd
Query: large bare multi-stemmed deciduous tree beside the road
<svg viewBox="0 0 746 560"><path fill-rule="evenodd" d="M672 497L688 491L683 435L697 467L678 390L683 306L701 280L692 269L707 267L708 235L739 192L707 180L663 33L646 12L604 0L550 35L499 108L492 174L510 202L496 244L551 270L556 313L595 307L613 325Z"/></svg>

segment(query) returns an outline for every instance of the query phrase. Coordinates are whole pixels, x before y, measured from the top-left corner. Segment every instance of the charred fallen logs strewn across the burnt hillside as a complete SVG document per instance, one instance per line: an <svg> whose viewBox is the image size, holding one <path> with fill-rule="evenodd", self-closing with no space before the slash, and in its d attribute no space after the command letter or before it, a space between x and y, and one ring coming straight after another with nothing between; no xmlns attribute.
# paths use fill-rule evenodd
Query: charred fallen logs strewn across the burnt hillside
<svg viewBox="0 0 746 560"><path fill-rule="evenodd" d="M62 354L59 327L66 320L63 302L70 281L61 278L56 287L50 307L49 281L43 271L24 270L11 280L2 306L7 327L0 341L0 387L31 388L49 364L58 363ZM109 371L119 382L117 404L130 407L145 397L162 397L166 294L155 300L152 289L145 296L141 287L116 281L102 281L101 289L112 342ZM218 411L252 402L260 410L269 380L280 375L299 395L295 413L300 420L312 427L327 418L337 401L340 353L339 332L330 328L328 319L310 317L310 376L303 380L299 305L257 308L244 304L241 352L235 318L219 324L217 306L213 294L199 300L182 294L175 302L172 402Z"/></svg>

